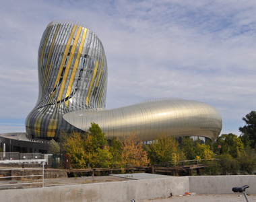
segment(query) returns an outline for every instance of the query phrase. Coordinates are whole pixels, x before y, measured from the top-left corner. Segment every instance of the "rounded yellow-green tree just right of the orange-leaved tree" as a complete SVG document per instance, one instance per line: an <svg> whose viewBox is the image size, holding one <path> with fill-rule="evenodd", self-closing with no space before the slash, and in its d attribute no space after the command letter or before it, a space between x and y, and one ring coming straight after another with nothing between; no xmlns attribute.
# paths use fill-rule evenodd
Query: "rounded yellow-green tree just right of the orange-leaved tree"
<svg viewBox="0 0 256 202"><path fill-rule="evenodd" d="M148 146L148 157L151 164L176 162L180 160L179 143L173 136L165 133L158 134Z"/></svg>

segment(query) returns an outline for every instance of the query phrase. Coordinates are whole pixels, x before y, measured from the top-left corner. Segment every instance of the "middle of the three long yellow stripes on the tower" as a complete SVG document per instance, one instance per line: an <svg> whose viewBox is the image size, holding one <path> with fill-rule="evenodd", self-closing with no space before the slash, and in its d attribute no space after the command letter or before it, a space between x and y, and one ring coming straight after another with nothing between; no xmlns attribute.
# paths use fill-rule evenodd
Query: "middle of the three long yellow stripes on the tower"
<svg viewBox="0 0 256 202"><path fill-rule="evenodd" d="M67 67L66 67L65 73L63 75L63 79L62 79L62 83L61 83L61 88L59 90L59 96L57 98L57 101L61 100L61 98L62 98L63 90L65 88L65 84L66 84L66 81L67 81L67 75L69 73L69 68L70 68L72 60L73 60L73 55L75 53L75 48L76 48L77 41L79 39L81 30L82 30L82 27L79 27L78 30L77 30L77 34L75 36L75 40L73 42L73 46L72 46L71 51L70 51L69 59L67 61Z"/></svg>

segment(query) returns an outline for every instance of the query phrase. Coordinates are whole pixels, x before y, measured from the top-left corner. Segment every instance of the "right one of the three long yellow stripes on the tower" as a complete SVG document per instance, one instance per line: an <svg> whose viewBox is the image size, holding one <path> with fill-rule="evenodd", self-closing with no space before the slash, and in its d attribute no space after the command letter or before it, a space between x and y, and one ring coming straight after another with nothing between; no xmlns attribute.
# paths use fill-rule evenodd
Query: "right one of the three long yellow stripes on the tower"
<svg viewBox="0 0 256 202"><path fill-rule="evenodd" d="M67 96L69 96L70 92L71 92L71 88L72 88L72 85L73 85L73 79L75 78L75 72L76 72L76 69L77 69L77 66L78 66L78 63L79 63L79 59L80 59L80 56L81 56L81 53L82 53L82 50L83 50L83 47L84 47L84 41L86 40L86 33L87 33L87 29L84 28L84 33L83 33L83 36L82 36L82 39L81 39L81 42L80 42L80 46L79 46L79 49L78 49L78 52L77 52L77 57L75 59L75 64L74 64L74 67L73 67L73 70L72 70L72 73L71 73L71 76L70 76L70 79L69 79L69 86L67 86L67 93L66 93L65 98L67 98ZM65 106L68 106L68 105L69 105L69 100L67 100L65 102Z"/></svg>

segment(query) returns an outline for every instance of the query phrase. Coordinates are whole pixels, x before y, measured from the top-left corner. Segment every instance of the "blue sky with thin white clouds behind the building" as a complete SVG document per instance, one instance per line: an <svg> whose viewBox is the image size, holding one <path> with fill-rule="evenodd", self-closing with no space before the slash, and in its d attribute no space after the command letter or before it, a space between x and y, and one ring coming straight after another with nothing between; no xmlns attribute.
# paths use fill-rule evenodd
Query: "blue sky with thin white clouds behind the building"
<svg viewBox="0 0 256 202"><path fill-rule="evenodd" d="M37 52L57 19L86 24L108 61L106 108L178 97L214 106L240 135L256 107L256 1L3 1L0 133L25 131L38 96Z"/></svg>

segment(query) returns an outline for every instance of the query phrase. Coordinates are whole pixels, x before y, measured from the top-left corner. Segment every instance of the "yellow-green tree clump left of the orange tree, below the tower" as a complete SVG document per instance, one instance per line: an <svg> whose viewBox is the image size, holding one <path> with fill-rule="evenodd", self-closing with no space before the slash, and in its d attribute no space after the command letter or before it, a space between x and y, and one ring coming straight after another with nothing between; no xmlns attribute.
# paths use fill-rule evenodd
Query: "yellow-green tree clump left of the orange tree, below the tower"
<svg viewBox="0 0 256 202"><path fill-rule="evenodd" d="M61 147L69 154L73 168L86 168L90 163L92 168L108 168L112 155L108 151L106 137L96 123L92 123L88 133L82 135L73 132L63 133Z"/></svg>

